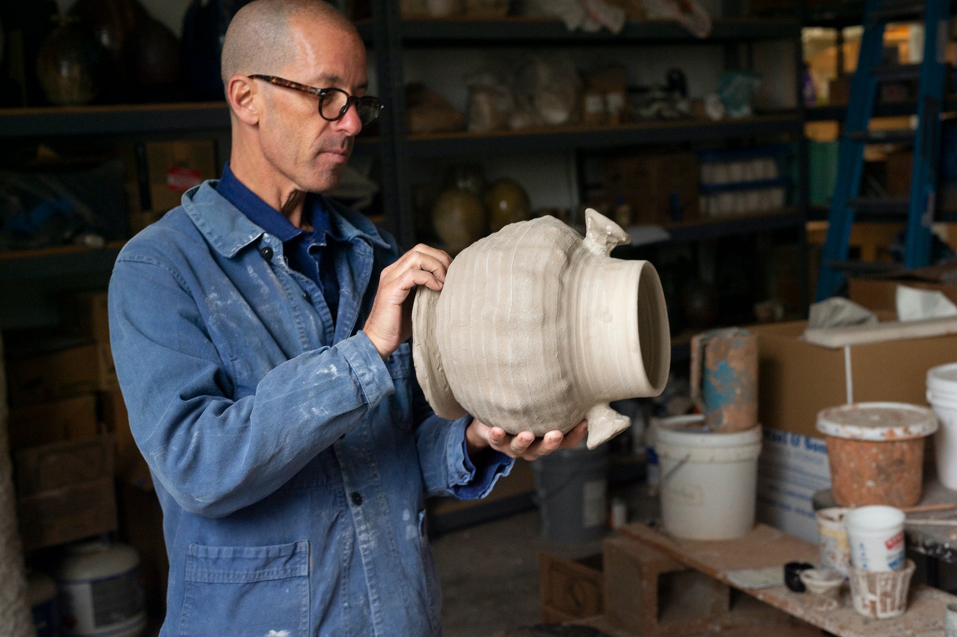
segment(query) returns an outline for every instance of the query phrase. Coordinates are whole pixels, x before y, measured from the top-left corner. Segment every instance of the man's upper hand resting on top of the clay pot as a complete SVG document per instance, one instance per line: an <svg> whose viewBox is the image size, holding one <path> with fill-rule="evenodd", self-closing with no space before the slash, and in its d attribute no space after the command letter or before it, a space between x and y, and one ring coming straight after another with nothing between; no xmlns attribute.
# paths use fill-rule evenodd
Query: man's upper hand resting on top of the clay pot
<svg viewBox="0 0 957 637"><path fill-rule="evenodd" d="M383 360L412 336L412 288L424 285L440 291L450 265L451 256L420 243L383 269L372 310L362 328Z"/></svg>

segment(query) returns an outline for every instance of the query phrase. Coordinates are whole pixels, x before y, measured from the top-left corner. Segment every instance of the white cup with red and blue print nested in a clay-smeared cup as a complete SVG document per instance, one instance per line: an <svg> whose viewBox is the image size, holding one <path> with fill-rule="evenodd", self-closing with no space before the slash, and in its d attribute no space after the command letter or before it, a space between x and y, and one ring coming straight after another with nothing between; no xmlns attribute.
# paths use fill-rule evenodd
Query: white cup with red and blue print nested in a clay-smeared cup
<svg viewBox="0 0 957 637"><path fill-rule="evenodd" d="M851 563L868 571L899 571L904 566L904 515L900 509L872 505L844 515Z"/></svg>

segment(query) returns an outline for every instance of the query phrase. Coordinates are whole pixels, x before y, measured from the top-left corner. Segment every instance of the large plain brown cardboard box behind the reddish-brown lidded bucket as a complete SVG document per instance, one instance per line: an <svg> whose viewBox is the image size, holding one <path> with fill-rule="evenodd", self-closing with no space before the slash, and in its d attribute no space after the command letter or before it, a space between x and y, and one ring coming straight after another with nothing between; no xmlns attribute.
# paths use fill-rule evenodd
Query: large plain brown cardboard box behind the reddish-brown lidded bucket
<svg viewBox="0 0 957 637"><path fill-rule="evenodd" d="M801 340L805 321L749 327L758 336L758 420L818 437L817 412L865 401L925 405L927 369L957 361L957 335L839 349Z"/></svg>

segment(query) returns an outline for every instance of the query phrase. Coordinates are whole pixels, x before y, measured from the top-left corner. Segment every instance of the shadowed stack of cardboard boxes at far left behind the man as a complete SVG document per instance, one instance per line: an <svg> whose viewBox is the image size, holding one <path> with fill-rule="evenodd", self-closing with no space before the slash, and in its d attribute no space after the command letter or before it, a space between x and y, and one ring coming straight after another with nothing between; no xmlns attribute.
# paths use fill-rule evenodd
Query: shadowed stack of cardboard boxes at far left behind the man
<svg viewBox="0 0 957 637"><path fill-rule="evenodd" d="M97 408L98 392L118 387L109 342L59 335L11 344L19 350L7 370L25 548L115 531L113 439Z"/></svg>

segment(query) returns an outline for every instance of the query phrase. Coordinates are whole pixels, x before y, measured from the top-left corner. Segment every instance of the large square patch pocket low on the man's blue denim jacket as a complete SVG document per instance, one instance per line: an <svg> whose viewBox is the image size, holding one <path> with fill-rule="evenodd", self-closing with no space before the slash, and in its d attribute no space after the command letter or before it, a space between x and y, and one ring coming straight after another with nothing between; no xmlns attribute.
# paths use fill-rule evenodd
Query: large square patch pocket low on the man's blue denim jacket
<svg viewBox="0 0 957 637"><path fill-rule="evenodd" d="M309 541L189 544L180 637L309 632Z"/></svg>

